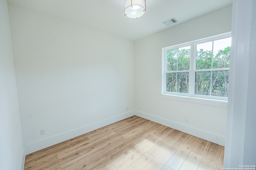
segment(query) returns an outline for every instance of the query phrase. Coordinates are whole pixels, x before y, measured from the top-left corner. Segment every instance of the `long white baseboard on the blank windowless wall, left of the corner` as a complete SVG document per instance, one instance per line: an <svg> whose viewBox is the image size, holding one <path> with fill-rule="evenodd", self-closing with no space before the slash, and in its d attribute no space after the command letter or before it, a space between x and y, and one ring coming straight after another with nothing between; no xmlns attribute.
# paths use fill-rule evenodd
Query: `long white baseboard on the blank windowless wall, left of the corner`
<svg viewBox="0 0 256 170"><path fill-rule="evenodd" d="M108 118L108 119L105 119L105 120L102 120L102 121L98 121L96 123L92 123L90 125L86 125L86 126L81 127L81 128L70 130L68 132L58 134L58 135L52 136L50 138L46 138L44 140L40 140L40 141L34 142L32 144L28 144L28 145L25 146L26 154L36 152L36 151L41 150L43 148L47 148L47 147L52 146L54 144L63 142L65 140L68 140L70 138L74 138L74 137L79 136L81 134L85 134L85 133L90 132L92 130L95 130L97 128L101 128L101 127L104 127L106 125L110 125L112 123L115 123L115 122L121 121L123 119L126 119L128 117L134 116L135 115L134 112L135 111L130 111L130 112L124 113L122 115L118 115L118 116L111 117L111 118Z"/></svg>

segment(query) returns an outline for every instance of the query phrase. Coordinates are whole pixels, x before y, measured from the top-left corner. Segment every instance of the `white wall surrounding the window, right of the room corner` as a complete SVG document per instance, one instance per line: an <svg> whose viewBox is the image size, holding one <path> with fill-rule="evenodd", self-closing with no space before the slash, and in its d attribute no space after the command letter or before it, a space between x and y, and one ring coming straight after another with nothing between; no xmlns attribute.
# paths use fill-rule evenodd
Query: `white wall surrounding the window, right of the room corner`
<svg viewBox="0 0 256 170"><path fill-rule="evenodd" d="M230 32L231 21L232 6L227 6L136 41L136 115L224 145L226 107L160 98L162 48Z"/></svg>

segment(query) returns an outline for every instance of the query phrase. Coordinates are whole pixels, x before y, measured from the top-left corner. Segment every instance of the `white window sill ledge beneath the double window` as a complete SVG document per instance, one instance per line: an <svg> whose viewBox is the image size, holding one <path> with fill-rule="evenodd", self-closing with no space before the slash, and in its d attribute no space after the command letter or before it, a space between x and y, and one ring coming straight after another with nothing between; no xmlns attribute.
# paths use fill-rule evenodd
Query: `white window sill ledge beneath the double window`
<svg viewBox="0 0 256 170"><path fill-rule="evenodd" d="M186 101L186 102L199 103L204 105L228 107L228 101L224 101L224 100L204 99L199 97L178 96L178 95L168 95L168 94L160 94L160 97L164 99Z"/></svg>

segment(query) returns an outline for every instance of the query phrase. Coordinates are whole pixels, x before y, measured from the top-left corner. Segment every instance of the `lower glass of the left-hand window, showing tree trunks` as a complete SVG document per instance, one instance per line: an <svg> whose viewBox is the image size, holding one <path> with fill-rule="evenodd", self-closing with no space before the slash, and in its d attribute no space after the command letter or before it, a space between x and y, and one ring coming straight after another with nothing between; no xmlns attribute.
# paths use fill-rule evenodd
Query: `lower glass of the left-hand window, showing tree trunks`
<svg viewBox="0 0 256 170"><path fill-rule="evenodd" d="M166 91L188 93L188 72L166 73Z"/></svg>

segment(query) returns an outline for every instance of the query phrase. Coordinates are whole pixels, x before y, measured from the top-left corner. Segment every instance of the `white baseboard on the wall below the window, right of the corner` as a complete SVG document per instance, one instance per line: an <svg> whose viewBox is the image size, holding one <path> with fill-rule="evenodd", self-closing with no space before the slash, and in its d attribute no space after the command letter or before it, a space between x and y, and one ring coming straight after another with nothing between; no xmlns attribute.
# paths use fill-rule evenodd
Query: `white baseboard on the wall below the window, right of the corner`
<svg viewBox="0 0 256 170"><path fill-rule="evenodd" d="M188 125L170 121L168 119L164 119L162 117L157 117L157 116L150 115L148 113L144 113L144 112L140 112L140 111L136 111L135 115L142 117L144 119L148 119L150 121L156 122L156 123L160 123L161 125L165 125L167 127L174 128L176 130L180 130L182 132L191 134L193 136L208 140L210 142L220 144L222 146L225 145L225 136L214 134L212 132L208 132L208 131L205 131L205 130L202 130L199 128L190 127Z"/></svg>

